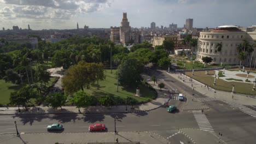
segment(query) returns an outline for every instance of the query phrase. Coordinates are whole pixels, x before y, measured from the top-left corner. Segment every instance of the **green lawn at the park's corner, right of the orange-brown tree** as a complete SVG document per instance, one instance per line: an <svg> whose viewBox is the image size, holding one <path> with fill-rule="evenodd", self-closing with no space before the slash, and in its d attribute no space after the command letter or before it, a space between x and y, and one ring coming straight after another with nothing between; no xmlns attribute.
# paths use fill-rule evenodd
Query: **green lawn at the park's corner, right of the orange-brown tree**
<svg viewBox="0 0 256 144"><path fill-rule="evenodd" d="M143 103L144 101L150 101L157 97L156 91L149 89L146 84L141 84L139 86L139 91L142 95L141 97L135 96L136 87L124 88L119 85L119 92L117 92L117 70L112 70L112 72L113 73L111 74L110 70L107 70L106 79L104 81L99 81L99 89L97 89L97 82L95 82L95 84L92 85L89 89L84 88L84 91L94 97L101 97L103 95L110 94L114 96L115 100L119 99L120 101L124 101L126 97L132 97L137 99L140 103Z"/></svg>

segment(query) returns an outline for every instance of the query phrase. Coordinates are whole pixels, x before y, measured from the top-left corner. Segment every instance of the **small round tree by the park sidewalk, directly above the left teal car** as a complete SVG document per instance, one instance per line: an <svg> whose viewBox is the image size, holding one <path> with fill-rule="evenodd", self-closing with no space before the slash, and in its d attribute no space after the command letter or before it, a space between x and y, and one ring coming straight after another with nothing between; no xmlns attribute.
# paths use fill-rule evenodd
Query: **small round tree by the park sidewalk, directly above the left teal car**
<svg viewBox="0 0 256 144"><path fill-rule="evenodd" d="M53 107L53 109L57 109L58 107L62 109L61 106L65 105L66 100L67 97L62 93L51 93L46 97L44 104L48 107Z"/></svg>

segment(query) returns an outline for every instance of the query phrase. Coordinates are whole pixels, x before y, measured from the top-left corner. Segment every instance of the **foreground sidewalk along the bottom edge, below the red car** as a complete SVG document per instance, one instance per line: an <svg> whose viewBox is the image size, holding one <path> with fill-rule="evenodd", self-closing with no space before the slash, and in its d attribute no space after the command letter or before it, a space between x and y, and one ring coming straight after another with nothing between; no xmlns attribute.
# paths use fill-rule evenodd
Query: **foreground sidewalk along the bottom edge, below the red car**
<svg viewBox="0 0 256 144"><path fill-rule="evenodd" d="M20 137L16 134L0 135L0 143L116 143L118 139L119 144L163 144L167 143L167 140L152 133L147 132L132 132L123 131L117 134L113 132L98 132L98 133L32 133L32 134L21 134Z"/></svg>

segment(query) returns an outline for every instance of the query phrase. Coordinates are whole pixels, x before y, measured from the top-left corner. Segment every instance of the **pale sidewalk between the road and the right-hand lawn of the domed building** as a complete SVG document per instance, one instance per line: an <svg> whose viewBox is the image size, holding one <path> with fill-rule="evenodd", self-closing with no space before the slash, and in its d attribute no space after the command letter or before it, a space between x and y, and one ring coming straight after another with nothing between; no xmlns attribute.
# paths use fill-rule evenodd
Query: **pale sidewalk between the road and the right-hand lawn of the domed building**
<svg viewBox="0 0 256 144"><path fill-rule="evenodd" d="M173 74L173 73L168 73L170 76L172 76L174 79L183 82L182 79L179 79L178 76L181 76L179 73ZM249 97L247 95L242 95L242 94L237 94L234 93L232 94L231 92L223 92L223 91L218 91L215 89L212 89L211 86L208 90L207 87L204 87L205 85L194 80L192 82L189 82L190 77L185 76L185 81L183 82L184 85L187 85L188 87L191 87L191 83L193 83L194 91L197 91L207 97L211 98L216 98L221 101L228 101L230 103L234 104L241 104L241 105L256 105L256 98ZM192 87L191 87L192 89ZM216 93L214 93L214 91ZM232 95L234 95L234 98L232 98Z"/></svg>

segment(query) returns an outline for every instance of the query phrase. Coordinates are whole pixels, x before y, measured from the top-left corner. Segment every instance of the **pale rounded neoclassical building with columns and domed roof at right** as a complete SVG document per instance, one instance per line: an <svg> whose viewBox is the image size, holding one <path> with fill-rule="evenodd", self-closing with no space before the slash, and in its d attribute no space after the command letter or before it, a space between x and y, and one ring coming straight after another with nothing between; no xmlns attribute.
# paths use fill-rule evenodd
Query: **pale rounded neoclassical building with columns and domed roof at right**
<svg viewBox="0 0 256 144"><path fill-rule="evenodd" d="M197 45L197 61L202 62L202 57L212 57L212 63L223 64L239 64L237 46L243 43L243 40L248 40L253 43L255 40L256 31L252 32L241 30L232 25L219 26L211 31L200 32L200 37ZM217 51L217 44L222 43L222 51ZM220 54L220 58L219 58ZM253 56L253 64L256 52ZM245 64L249 63L251 56L247 57Z"/></svg>

